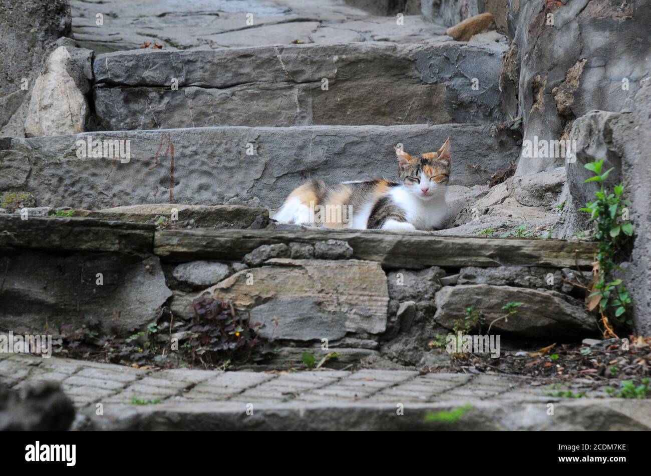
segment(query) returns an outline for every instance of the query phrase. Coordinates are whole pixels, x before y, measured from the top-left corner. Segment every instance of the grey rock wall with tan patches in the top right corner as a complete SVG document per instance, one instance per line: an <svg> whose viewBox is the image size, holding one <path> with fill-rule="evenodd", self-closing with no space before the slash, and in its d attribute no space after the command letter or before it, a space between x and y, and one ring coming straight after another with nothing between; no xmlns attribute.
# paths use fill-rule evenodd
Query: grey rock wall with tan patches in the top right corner
<svg viewBox="0 0 651 476"><path fill-rule="evenodd" d="M511 2L509 30L519 56L518 111L524 140L567 139L593 109L630 112L651 68L651 0ZM608 38L603 42L599 38ZM551 170L564 157L521 156L516 175Z"/></svg>

